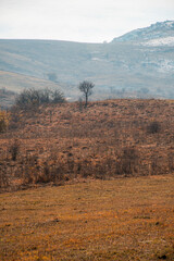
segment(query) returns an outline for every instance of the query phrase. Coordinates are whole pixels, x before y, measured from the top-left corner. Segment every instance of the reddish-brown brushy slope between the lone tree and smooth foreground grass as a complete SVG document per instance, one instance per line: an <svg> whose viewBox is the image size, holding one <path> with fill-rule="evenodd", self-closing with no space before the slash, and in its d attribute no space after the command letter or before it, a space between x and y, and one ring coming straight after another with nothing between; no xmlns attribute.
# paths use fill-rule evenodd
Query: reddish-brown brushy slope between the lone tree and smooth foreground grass
<svg viewBox="0 0 174 261"><path fill-rule="evenodd" d="M0 134L1 187L173 173L173 110L172 100L13 109Z"/></svg>

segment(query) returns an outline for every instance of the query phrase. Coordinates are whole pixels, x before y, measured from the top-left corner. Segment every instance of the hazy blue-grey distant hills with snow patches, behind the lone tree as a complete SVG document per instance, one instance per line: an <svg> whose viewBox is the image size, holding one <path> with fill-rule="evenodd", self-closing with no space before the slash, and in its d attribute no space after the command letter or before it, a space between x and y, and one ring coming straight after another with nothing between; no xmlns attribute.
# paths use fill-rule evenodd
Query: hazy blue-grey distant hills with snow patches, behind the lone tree
<svg viewBox="0 0 174 261"><path fill-rule="evenodd" d="M0 88L17 91L15 77L26 75L21 89L28 77L36 77L36 83L47 80L46 86L52 79L54 87L61 86L72 100L80 96L76 86L84 79L95 83L94 99L174 99L174 21L136 29L103 44L1 39L0 71ZM16 75L9 87L11 73Z"/></svg>

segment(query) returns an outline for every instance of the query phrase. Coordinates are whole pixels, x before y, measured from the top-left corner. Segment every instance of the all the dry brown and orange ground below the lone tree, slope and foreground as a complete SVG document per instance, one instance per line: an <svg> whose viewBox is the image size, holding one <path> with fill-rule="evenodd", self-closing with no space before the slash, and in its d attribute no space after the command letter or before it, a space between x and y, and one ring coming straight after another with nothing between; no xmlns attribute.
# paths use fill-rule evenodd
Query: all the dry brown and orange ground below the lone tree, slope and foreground
<svg viewBox="0 0 174 261"><path fill-rule="evenodd" d="M174 260L174 101L0 115L0 260Z"/></svg>

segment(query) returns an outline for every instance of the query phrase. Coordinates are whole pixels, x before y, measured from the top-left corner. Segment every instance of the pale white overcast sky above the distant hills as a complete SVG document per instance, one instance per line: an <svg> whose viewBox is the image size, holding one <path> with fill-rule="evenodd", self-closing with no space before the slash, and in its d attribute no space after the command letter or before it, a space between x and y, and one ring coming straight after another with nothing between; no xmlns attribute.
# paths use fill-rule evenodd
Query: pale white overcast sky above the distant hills
<svg viewBox="0 0 174 261"><path fill-rule="evenodd" d="M0 0L0 38L110 41L174 20L174 0Z"/></svg>

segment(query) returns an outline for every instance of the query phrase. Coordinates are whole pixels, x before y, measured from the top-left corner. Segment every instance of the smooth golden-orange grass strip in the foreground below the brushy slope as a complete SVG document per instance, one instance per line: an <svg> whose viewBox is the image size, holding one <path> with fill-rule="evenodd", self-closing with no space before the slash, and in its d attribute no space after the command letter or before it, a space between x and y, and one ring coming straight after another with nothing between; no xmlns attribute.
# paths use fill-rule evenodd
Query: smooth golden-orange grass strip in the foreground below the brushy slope
<svg viewBox="0 0 174 261"><path fill-rule="evenodd" d="M173 260L174 176L0 195L0 260Z"/></svg>

